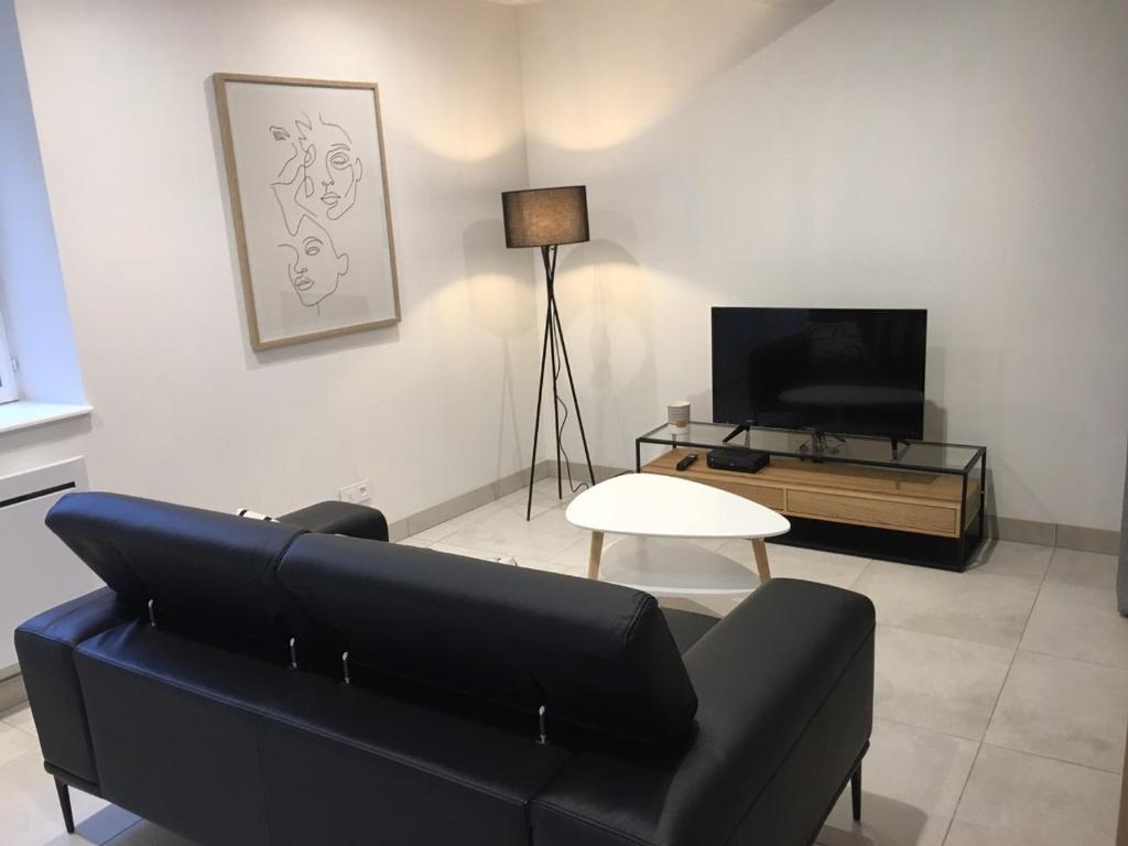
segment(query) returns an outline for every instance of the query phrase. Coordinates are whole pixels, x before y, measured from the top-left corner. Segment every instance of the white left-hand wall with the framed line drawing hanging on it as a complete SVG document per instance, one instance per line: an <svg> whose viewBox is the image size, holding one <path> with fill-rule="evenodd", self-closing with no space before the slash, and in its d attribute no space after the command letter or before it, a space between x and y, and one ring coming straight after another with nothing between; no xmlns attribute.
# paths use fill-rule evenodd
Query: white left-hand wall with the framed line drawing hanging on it
<svg viewBox="0 0 1128 846"><path fill-rule="evenodd" d="M360 478L390 519L527 466L538 351L497 192L526 182L517 11L468 0L17 0L91 423L0 475L281 512ZM211 74L380 83L404 320L255 354ZM27 280L24 283L34 284Z"/></svg>

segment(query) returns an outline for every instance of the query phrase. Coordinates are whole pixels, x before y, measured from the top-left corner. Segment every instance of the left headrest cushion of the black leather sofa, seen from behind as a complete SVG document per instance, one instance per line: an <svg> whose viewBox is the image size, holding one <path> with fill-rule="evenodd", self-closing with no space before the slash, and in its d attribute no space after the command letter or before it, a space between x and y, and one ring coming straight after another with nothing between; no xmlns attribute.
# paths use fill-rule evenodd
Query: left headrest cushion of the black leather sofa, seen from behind
<svg viewBox="0 0 1128 846"><path fill-rule="evenodd" d="M109 493L72 493L47 526L158 626L249 641L285 656L309 629L276 570L301 529Z"/></svg>

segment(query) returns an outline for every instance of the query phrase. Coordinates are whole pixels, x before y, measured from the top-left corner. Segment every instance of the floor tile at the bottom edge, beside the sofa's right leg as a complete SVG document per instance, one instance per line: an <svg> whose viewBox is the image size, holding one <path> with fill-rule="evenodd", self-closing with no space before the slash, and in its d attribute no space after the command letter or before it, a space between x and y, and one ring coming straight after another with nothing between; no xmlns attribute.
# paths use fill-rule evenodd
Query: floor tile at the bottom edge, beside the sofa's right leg
<svg viewBox="0 0 1128 846"><path fill-rule="evenodd" d="M825 846L940 846L978 743L874 721L862 764L862 821L844 791L818 841Z"/></svg>

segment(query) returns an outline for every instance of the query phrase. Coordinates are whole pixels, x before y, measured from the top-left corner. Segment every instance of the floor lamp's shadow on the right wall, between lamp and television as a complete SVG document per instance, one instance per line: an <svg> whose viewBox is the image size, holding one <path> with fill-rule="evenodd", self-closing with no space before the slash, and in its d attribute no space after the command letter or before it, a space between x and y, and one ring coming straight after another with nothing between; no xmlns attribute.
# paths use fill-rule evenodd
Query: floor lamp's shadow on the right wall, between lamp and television
<svg viewBox="0 0 1128 846"><path fill-rule="evenodd" d="M596 211L592 231L633 240L634 223ZM622 462L633 443L637 408L658 407L654 317L650 281L622 244L593 239L562 252L556 299L593 464ZM565 377L566 378L566 377ZM579 430L564 433L570 456L582 455ZM579 451L578 451L579 450Z"/></svg>

